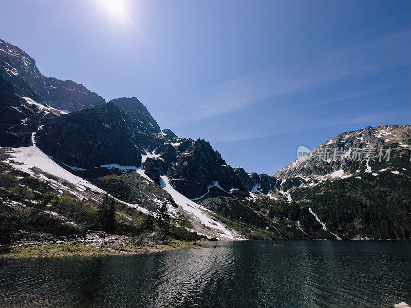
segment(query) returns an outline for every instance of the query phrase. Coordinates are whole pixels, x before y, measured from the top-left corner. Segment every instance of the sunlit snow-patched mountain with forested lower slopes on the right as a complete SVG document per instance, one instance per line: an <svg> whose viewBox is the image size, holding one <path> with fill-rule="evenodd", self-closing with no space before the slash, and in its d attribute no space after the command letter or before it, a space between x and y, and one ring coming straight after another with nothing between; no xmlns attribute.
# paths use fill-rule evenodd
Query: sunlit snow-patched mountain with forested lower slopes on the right
<svg viewBox="0 0 411 308"><path fill-rule="evenodd" d="M210 198L200 204L217 213L221 221L256 238L278 236L278 232L287 238L409 238L410 136L409 125L345 132L274 177L236 168L252 198ZM352 159L358 153L361 159ZM267 180L269 188L260 184ZM268 231L274 227L273 235L261 234L265 225Z"/></svg>

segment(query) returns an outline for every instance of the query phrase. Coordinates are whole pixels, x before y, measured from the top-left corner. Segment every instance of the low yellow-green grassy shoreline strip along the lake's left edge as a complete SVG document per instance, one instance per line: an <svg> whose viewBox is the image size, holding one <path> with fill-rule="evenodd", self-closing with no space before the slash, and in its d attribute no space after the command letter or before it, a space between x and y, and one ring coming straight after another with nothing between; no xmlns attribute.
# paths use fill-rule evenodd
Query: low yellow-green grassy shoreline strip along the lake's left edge
<svg viewBox="0 0 411 308"><path fill-rule="evenodd" d="M88 243L45 244L40 242L29 247L12 247L9 253L0 255L0 259L149 254L169 252L181 248L206 248L209 246L210 244L205 242L178 240L141 245L113 243L101 245L100 247Z"/></svg>

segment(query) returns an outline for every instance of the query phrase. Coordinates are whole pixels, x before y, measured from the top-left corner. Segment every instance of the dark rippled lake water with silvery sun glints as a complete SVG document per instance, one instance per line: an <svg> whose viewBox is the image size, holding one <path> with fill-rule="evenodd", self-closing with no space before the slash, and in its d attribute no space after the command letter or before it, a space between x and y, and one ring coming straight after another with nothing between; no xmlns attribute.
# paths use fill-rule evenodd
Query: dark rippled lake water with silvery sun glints
<svg viewBox="0 0 411 308"><path fill-rule="evenodd" d="M2 308L376 308L402 301L411 304L411 242L237 241L151 255L0 260Z"/></svg>

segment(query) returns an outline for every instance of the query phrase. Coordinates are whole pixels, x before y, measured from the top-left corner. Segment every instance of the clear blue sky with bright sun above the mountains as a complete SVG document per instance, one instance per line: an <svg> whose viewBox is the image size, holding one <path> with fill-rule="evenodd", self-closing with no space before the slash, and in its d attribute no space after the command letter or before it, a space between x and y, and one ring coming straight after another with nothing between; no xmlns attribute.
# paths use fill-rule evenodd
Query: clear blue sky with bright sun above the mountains
<svg viewBox="0 0 411 308"><path fill-rule="evenodd" d="M135 96L161 128L274 174L338 133L410 124L411 2L2 0L46 76Z"/></svg>

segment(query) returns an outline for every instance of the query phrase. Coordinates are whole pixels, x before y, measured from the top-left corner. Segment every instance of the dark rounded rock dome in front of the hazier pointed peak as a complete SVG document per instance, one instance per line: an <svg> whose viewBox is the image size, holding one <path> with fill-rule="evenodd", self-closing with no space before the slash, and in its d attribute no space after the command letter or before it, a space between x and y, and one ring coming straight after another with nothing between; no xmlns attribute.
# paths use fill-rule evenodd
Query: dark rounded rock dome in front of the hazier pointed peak
<svg viewBox="0 0 411 308"><path fill-rule="evenodd" d="M140 166L140 150L128 130L130 121L115 105L99 105L53 119L39 131L37 145L72 167Z"/></svg>

